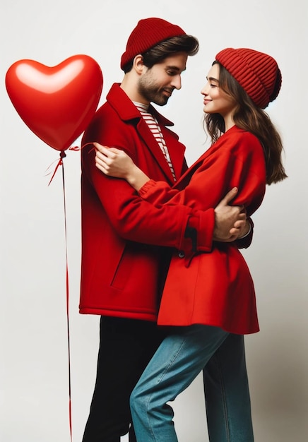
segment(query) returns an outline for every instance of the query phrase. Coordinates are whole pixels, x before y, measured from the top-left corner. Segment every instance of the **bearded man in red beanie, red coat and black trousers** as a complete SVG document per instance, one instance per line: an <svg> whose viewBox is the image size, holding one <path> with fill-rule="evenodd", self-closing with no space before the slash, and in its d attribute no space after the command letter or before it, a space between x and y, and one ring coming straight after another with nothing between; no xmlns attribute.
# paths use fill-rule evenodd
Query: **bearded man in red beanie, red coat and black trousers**
<svg viewBox="0 0 308 442"><path fill-rule="evenodd" d="M131 216L133 189L95 167L91 143L97 141L126 150L155 180L172 184L179 179L186 169L184 145L166 127L172 123L150 102L164 105L173 90L181 88L186 59L198 49L198 40L179 26L160 18L140 20L122 55L124 79L112 85L83 136L80 311L101 315L97 378L83 442L119 442L129 431L131 390L165 333L155 321L168 247L182 256L211 251L213 234L225 239L235 220L243 218L241 208L225 201L215 213L183 206L174 217L170 207L163 215L166 231L149 237L148 227L157 218L142 212ZM130 203L124 205L127 196ZM150 210L149 204L147 213ZM136 440L133 429L129 440Z"/></svg>

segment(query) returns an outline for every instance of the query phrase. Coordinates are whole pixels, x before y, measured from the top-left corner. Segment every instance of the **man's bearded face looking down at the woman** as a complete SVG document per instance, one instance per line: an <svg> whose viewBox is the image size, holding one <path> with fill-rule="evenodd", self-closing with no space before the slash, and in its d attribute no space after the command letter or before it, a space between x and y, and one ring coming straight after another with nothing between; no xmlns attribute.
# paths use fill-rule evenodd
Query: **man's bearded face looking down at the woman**
<svg viewBox="0 0 308 442"><path fill-rule="evenodd" d="M145 66L138 82L138 93L147 101L164 106L174 89L181 89L181 74L186 69L187 54L178 52L155 64Z"/></svg>

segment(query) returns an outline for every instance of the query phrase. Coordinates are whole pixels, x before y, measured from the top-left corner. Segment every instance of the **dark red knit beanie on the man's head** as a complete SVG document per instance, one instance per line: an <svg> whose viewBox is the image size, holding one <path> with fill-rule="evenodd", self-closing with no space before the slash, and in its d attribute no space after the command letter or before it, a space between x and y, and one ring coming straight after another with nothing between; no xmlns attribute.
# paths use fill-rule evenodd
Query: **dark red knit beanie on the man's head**
<svg viewBox="0 0 308 442"><path fill-rule="evenodd" d="M127 40L126 51L121 57L121 68L123 69L136 55L143 54L156 44L178 35L186 35L186 32L162 18L139 20Z"/></svg>

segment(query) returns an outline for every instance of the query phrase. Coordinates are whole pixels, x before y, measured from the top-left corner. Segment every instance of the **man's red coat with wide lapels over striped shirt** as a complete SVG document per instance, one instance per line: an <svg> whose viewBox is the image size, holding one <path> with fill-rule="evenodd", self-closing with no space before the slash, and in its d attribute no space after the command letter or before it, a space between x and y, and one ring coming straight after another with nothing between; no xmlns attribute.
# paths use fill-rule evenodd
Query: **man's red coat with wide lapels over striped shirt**
<svg viewBox="0 0 308 442"><path fill-rule="evenodd" d="M186 170L184 145L165 127L172 125L170 121L152 107L150 112L162 126L179 178ZM173 184L170 168L148 125L117 84L112 85L107 102L85 131L82 145L93 141L126 150L150 177ZM156 321L162 261L170 253L158 246L191 249L191 240L184 236L191 220L204 232L202 247L210 250L213 210L198 215L179 205L159 213L125 180L106 177L95 167L93 145L85 145L81 157L80 312ZM156 231L157 223L164 229Z"/></svg>

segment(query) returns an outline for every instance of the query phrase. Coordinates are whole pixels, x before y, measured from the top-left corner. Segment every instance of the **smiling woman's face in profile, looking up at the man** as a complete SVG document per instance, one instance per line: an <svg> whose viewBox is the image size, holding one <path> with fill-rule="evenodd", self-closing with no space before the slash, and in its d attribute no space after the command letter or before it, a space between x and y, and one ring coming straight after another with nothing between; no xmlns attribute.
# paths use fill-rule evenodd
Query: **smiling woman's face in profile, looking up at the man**
<svg viewBox="0 0 308 442"><path fill-rule="evenodd" d="M208 81L201 90L204 105L203 112L206 112L206 114L220 114L224 119L232 117L237 102L219 87L218 64L211 67L206 79Z"/></svg>

